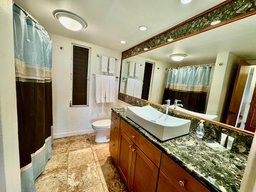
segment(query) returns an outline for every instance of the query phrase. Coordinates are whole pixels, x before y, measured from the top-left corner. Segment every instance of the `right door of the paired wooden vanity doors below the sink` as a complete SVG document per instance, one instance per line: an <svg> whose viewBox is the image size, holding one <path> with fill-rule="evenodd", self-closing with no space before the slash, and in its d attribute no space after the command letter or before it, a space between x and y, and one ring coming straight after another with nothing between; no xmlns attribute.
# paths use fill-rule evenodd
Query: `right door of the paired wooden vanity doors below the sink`
<svg viewBox="0 0 256 192"><path fill-rule="evenodd" d="M132 148L130 192L155 192L158 168L134 144Z"/></svg>

